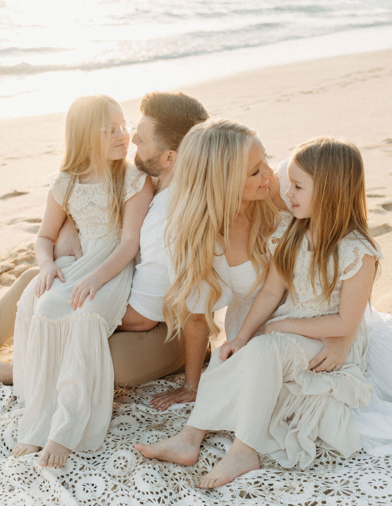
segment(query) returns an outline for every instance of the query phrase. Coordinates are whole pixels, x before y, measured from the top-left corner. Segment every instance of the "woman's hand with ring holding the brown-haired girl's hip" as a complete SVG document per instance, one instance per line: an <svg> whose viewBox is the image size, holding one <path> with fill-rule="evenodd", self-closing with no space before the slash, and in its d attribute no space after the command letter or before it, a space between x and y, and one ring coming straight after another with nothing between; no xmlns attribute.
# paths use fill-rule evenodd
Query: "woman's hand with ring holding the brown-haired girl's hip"
<svg viewBox="0 0 392 506"><path fill-rule="evenodd" d="M345 363L355 335L345 335L339 338L323 338L323 349L309 362L308 370L315 372L338 371Z"/></svg>

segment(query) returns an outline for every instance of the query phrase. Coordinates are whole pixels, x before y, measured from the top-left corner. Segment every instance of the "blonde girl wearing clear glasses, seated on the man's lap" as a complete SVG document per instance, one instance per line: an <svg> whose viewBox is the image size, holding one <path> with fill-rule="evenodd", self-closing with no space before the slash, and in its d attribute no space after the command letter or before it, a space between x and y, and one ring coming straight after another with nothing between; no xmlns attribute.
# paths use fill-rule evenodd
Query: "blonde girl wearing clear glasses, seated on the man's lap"
<svg viewBox="0 0 392 506"><path fill-rule="evenodd" d="M70 450L95 450L112 412L108 338L126 310L132 260L153 185L129 165L128 122L106 95L81 97L66 120L66 149L51 181L35 242L40 268L19 303L14 333L15 394L25 403L15 457L43 447L41 466L64 466ZM83 256L54 262L71 216Z"/></svg>

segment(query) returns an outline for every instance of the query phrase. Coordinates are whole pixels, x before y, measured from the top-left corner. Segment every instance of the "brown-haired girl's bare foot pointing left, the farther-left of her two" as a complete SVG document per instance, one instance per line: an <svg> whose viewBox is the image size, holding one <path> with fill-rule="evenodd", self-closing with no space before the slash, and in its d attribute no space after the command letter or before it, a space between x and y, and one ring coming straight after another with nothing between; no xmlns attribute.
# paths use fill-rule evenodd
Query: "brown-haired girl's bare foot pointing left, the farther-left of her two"
<svg viewBox="0 0 392 506"><path fill-rule="evenodd" d="M200 445L206 432L185 425L182 431L172 438L154 444L136 443L134 448L148 458L192 466L198 460Z"/></svg>

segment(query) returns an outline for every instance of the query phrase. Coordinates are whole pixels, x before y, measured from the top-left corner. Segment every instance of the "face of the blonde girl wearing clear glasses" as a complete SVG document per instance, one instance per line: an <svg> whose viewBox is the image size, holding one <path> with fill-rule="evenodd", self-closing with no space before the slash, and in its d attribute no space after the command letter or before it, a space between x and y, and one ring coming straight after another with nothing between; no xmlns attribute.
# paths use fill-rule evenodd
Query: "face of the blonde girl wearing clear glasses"
<svg viewBox="0 0 392 506"><path fill-rule="evenodd" d="M118 134L112 137L111 130L114 125L120 127L125 122L124 113L121 107L114 104L109 106L109 118L106 131L103 135L103 145L107 149L107 161L121 160L125 158L128 152L129 133L122 128L118 128Z"/></svg>

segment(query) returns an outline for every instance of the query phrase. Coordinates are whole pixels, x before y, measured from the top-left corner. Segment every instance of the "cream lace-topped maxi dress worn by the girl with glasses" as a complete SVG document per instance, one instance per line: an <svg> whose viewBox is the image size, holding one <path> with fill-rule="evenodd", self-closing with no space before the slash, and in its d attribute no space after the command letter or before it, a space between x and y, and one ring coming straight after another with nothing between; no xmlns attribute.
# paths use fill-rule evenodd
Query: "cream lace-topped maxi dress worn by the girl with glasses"
<svg viewBox="0 0 392 506"><path fill-rule="evenodd" d="M63 203L69 175L51 181ZM145 175L128 167L124 202L139 192ZM75 284L101 265L120 242L121 230L108 226L108 193L103 183L76 183L68 202L83 256L56 264L65 283L55 278L50 290L35 297L36 280L19 303L14 333L14 393L25 402L18 441L44 446L51 439L72 450L95 450L108 430L113 402L113 365L108 338L121 323L132 280L133 263L88 298L71 307Z"/></svg>

